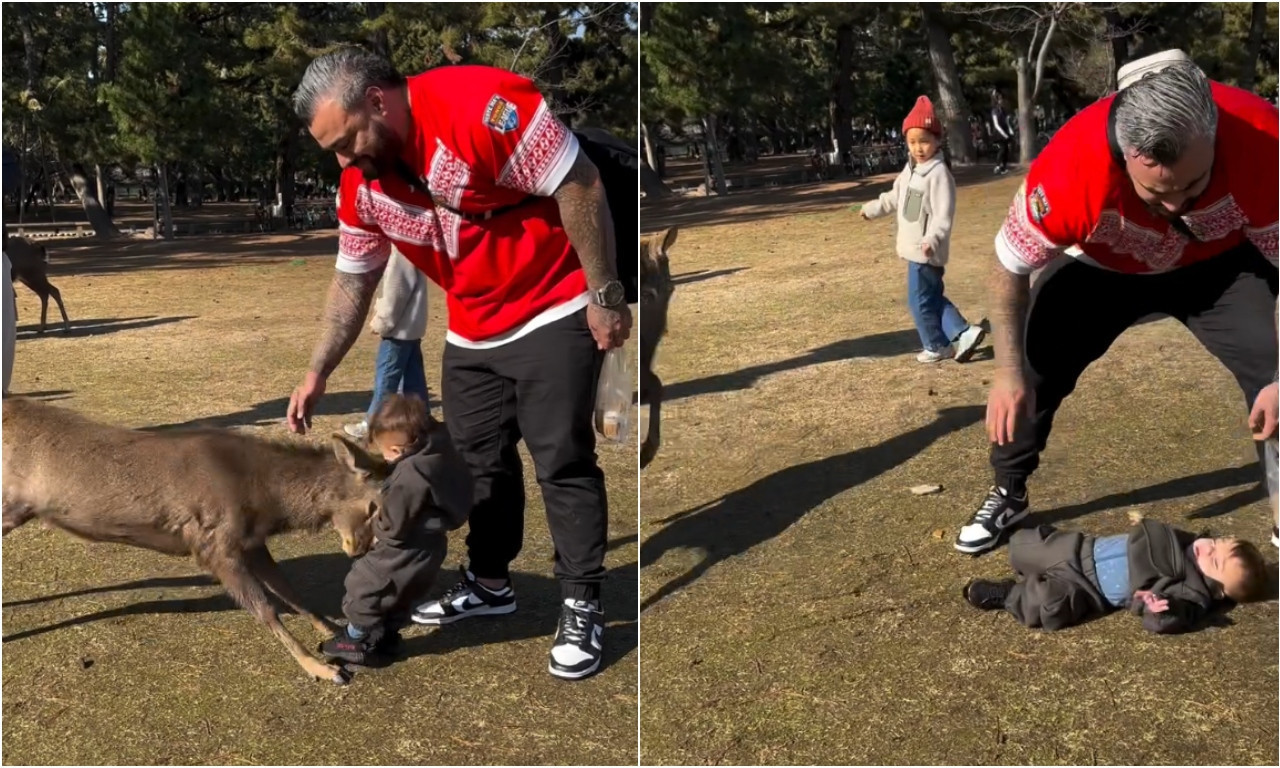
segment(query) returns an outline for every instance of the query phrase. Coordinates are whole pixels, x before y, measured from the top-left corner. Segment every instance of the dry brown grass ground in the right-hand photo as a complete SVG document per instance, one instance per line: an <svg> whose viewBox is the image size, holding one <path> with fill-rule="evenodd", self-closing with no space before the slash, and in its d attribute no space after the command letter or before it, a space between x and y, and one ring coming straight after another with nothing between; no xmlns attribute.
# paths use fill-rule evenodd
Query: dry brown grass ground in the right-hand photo
<svg viewBox="0 0 1280 768"><path fill-rule="evenodd" d="M970 320L1018 182L960 191L947 292ZM701 204L671 257L671 399L643 476L644 762L1276 764L1274 603L1180 637L1125 616L1038 634L964 604L968 579L1007 571L1005 550L951 548L991 481L992 364L914 361L892 223L846 210L864 193L753 220L760 195ZM645 230L682 206L646 207ZM1134 328L1060 412L1036 509L1265 541L1244 415L1181 326Z"/></svg>

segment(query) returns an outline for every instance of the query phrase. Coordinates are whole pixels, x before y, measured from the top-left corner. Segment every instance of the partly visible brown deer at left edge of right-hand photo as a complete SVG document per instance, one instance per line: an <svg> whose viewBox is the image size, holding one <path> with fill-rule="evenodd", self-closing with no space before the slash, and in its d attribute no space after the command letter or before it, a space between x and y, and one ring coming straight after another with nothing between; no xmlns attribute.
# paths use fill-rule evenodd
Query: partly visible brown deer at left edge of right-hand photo
<svg viewBox="0 0 1280 768"><path fill-rule="evenodd" d="M640 247L640 404L649 406L649 428L640 445L640 468L649 466L662 445L662 380L653 372L653 356L667 333L667 306L676 285L667 251L676 243L672 227L645 236Z"/></svg>

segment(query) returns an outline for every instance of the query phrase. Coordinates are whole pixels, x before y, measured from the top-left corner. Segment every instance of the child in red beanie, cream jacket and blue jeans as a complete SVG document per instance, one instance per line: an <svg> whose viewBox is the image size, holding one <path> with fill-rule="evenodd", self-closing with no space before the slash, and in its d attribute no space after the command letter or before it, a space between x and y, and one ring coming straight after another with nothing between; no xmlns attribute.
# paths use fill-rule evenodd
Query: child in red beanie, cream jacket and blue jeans
<svg viewBox="0 0 1280 768"><path fill-rule="evenodd" d="M986 335L943 294L956 182L942 160L942 123L928 96L902 120L909 159L893 188L861 209L864 219L897 211L897 255L908 261L908 305L920 333L920 362L968 361Z"/></svg>

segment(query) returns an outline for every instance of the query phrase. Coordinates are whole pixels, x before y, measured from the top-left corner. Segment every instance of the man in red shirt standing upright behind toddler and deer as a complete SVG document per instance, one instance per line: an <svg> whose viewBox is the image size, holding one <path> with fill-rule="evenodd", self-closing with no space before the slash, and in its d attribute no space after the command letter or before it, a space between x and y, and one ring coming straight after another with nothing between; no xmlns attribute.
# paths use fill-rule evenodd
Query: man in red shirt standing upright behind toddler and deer
<svg viewBox="0 0 1280 768"><path fill-rule="evenodd" d="M289 401L291 429L305 431L360 334L394 242L448 298L445 421L476 484L468 567L412 618L516 609L508 567L524 538L524 439L563 599L549 668L594 673L608 513L591 413L602 351L631 326L598 169L534 84L500 69L404 78L348 49L311 63L294 106L343 173L326 328Z"/></svg>

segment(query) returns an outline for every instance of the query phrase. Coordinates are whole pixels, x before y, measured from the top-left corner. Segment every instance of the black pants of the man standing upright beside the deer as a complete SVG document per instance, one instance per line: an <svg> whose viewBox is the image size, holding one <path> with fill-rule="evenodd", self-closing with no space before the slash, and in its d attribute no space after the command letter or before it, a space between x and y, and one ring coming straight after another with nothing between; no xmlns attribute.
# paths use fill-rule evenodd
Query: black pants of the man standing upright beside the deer
<svg viewBox="0 0 1280 768"><path fill-rule="evenodd" d="M599 598L608 500L596 465L595 384L603 353L586 310L493 349L444 347L442 394L453 443L475 477L467 554L481 579L507 579L525 538L525 480L534 460L566 598Z"/></svg>

